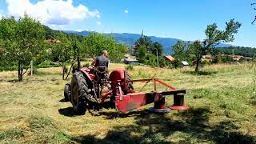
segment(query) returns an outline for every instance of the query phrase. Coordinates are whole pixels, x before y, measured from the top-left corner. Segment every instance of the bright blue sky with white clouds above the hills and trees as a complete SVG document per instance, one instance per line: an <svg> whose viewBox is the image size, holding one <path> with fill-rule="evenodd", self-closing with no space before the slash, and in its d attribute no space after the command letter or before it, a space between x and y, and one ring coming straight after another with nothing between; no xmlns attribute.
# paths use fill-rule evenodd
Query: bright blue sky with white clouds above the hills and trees
<svg viewBox="0 0 256 144"><path fill-rule="evenodd" d="M256 0L0 0L0 15L16 17L24 10L58 30L94 30L202 40L206 26L220 29L234 18L242 22L235 46L256 47L256 24L251 22Z"/></svg>

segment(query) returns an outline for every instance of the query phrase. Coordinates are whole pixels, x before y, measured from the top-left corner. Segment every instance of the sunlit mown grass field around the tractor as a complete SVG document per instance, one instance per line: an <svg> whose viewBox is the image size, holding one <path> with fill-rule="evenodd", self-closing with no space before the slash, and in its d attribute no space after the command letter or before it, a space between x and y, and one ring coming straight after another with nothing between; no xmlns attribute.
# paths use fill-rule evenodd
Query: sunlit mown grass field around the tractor
<svg viewBox="0 0 256 144"><path fill-rule="evenodd" d="M110 70L124 66L111 64ZM0 143L256 143L254 66L193 70L134 66L129 71L134 79L157 74L186 89L191 109L161 115L148 112L150 105L118 118L115 110L106 109L74 115L71 103L61 102L66 83L61 68L39 69L23 82L14 81L16 71L0 72ZM145 90L153 90L152 84ZM173 98L166 102L171 105Z"/></svg>

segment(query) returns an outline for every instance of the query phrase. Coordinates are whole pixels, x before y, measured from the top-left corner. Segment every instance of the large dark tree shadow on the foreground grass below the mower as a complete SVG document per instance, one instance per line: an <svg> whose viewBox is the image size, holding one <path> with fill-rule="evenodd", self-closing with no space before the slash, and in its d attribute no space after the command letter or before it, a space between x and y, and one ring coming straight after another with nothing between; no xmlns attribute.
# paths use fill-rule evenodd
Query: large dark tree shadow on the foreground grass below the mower
<svg viewBox="0 0 256 144"><path fill-rule="evenodd" d="M256 138L238 131L239 127L230 120L210 126L209 114L209 107L174 114L175 119L168 118L167 115L137 111L127 115L134 117L134 124L114 126L114 130L109 130L103 139L89 134L74 136L72 140L81 143L170 143L170 139L176 143L190 143L191 140L214 143L256 142ZM112 118L113 113L104 115ZM175 138L177 134L182 135Z"/></svg>

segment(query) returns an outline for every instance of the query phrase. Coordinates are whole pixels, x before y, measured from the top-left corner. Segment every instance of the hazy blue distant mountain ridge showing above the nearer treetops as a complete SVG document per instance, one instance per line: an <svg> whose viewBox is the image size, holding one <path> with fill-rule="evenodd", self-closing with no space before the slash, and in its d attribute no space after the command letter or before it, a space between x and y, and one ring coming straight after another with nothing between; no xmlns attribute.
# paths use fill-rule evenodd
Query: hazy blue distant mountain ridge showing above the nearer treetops
<svg viewBox="0 0 256 144"><path fill-rule="evenodd" d="M65 30L64 32L69 34L72 33L72 34L83 35L83 36L87 36L90 34L90 31L86 31L86 30L81 32ZM112 34L105 33L105 35L106 36L113 35L116 42L125 44L129 47L134 45L137 39L141 37L141 34L130 34L130 33L112 33ZM164 54L172 54L173 53L172 46L174 46L176 42L178 42L177 38L159 38L155 36L149 36L149 37L152 40L152 42L160 42L162 44L164 49ZM232 45L221 43L217 47L230 47L230 46Z"/></svg>

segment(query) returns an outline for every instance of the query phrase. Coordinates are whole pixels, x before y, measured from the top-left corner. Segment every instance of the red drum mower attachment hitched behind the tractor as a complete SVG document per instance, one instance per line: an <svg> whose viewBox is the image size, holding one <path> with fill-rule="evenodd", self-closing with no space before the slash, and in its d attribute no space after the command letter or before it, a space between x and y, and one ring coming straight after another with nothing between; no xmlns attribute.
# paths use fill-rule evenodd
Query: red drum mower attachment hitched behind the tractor
<svg viewBox="0 0 256 144"><path fill-rule="evenodd" d="M126 79L126 78L125 78ZM126 85L129 82L154 82L154 91L150 93L141 93L130 90L131 93L123 94L122 85ZM141 91L145 86L139 90ZM162 84L163 86L168 87L170 90L166 91L157 91L157 84ZM118 81L117 94L115 96L116 108L122 113L128 113L131 110L137 109L141 106L154 102L154 107L150 108L150 111L156 113L166 113L172 110L188 110L188 106L184 106L184 94L186 90L176 90L173 86L170 86L166 82L162 82L158 78L147 78L147 79L138 79L138 80L126 80L123 84L121 81ZM174 106L166 106L166 96L174 95Z"/></svg>

